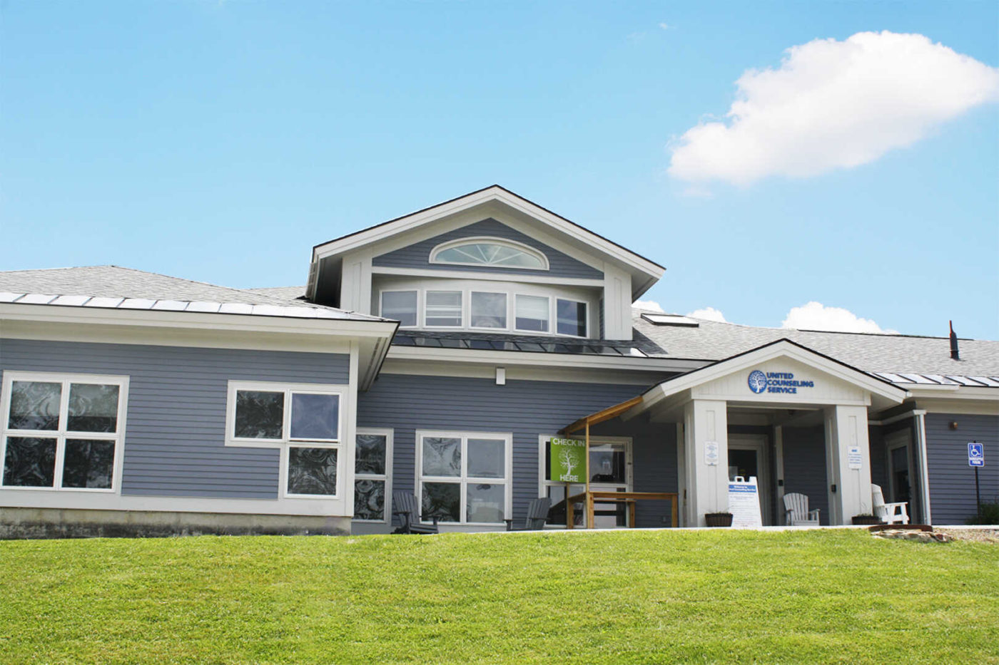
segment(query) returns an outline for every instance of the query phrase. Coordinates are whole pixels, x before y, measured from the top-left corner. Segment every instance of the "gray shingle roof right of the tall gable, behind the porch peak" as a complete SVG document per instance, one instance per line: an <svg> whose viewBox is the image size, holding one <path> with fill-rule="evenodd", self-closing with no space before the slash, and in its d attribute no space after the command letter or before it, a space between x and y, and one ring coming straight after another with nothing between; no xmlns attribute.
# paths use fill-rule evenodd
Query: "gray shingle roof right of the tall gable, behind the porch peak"
<svg viewBox="0 0 999 665"><path fill-rule="evenodd" d="M635 336L654 342L666 357L720 360L786 337L865 371L999 375L999 341L960 339L961 359L953 360L947 337L751 328L703 319L697 328L680 328L650 324L641 310L632 314Z"/></svg>

